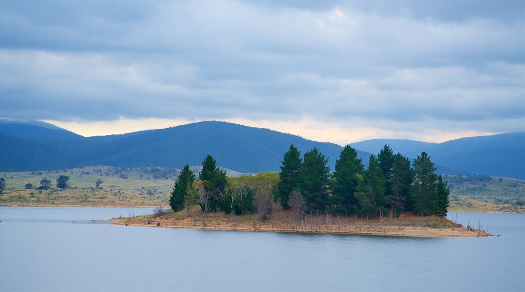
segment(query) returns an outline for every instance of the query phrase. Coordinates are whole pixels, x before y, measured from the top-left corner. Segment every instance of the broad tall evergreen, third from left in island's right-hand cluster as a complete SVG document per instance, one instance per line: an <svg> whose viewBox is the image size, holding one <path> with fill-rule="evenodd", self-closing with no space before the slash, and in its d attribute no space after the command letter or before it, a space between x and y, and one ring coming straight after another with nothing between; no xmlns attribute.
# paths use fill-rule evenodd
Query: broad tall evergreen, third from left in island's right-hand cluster
<svg viewBox="0 0 525 292"><path fill-rule="evenodd" d="M335 161L332 173L331 203L335 214L352 214L356 204L355 192L358 190L362 179L364 166L358 153L351 146L346 146L341 151L339 159Z"/></svg>

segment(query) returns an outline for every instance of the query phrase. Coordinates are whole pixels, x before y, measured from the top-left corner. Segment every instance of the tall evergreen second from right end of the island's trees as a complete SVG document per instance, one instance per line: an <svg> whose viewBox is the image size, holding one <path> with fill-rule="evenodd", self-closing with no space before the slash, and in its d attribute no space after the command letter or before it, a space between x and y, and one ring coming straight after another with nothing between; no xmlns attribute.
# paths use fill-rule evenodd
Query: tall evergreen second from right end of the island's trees
<svg viewBox="0 0 525 292"><path fill-rule="evenodd" d="M411 194L413 212L421 216L434 215L437 212L436 206L436 180L434 174L436 168L430 161L426 152L421 152L414 160L415 181Z"/></svg>

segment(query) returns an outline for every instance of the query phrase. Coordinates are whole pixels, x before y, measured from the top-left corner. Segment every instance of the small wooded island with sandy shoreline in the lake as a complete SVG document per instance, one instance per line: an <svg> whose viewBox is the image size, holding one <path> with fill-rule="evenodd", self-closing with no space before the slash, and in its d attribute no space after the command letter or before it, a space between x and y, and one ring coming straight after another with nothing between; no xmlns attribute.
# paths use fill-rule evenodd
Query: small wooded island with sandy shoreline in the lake
<svg viewBox="0 0 525 292"><path fill-rule="evenodd" d="M413 166L413 167L412 167ZM450 190L422 152L413 163L385 147L367 169L346 146L330 172L316 148L294 145L280 172L227 177L207 155L198 179L189 165L178 175L170 211L112 219L117 224L171 228L373 234L410 237L484 237L445 218Z"/></svg>

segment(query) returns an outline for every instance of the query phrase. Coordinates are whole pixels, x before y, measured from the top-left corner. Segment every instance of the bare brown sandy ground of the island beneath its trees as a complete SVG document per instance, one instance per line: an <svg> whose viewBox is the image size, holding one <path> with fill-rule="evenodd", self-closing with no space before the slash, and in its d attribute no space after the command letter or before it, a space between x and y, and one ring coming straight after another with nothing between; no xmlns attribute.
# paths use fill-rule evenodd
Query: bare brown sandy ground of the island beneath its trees
<svg viewBox="0 0 525 292"><path fill-rule="evenodd" d="M419 217L409 213L397 219L374 218L336 218L326 216L308 216L300 220L291 211L277 211L267 220L260 220L256 215L224 215L202 212L186 216L167 214L160 217L137 216L127 218L113 218L114 224L124 226L146 226L162 228L207 229L207 230L239 230L239 231L272 231L295 233L330 233L330 234L359 234L359 235L386 235L404 237L428 238L467 238L486 237L491 234L465 228L448 219Z"/></svg>

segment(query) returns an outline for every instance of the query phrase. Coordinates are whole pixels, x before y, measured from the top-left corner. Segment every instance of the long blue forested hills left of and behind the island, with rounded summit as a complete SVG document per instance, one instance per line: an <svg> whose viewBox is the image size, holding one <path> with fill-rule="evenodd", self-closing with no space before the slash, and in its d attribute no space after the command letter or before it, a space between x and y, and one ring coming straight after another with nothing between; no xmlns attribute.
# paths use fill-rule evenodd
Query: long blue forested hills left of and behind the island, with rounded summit
<svg viewBox="0 0 525 292"><path fill-rule="evenodd" d="M13 130L15 129L16 130ZM52 131L52 132L49 132ZM278 171L291 144L301 153L317 147L331 169L342 147L291 134L227 122L198 122L161 130L84 138L63 130L0 124L0 170L34 171L79 165L180 168L201 165L207 154L217 164L238 172ZM16 136L16 137L15 137ZM358 151L363 163L370 153Z"/></svg>

